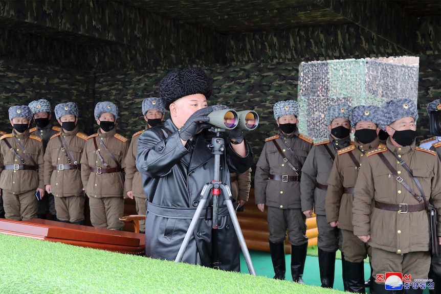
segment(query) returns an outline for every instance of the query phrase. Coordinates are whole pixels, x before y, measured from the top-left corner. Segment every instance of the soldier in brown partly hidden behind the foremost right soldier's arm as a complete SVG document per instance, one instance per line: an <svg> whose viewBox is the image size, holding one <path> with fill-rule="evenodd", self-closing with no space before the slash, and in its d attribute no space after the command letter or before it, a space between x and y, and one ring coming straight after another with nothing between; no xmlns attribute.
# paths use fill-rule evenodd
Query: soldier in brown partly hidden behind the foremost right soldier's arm
<svg viewBox="0 0 441 294"><path fill-rule="evenodd" d="M365 292L364 263L368 247L354 236L352 228L352 201L359 168L366 152L378 148L380 129L376 124L379 107L360 105L354 108L351 127L355 132L354 145L340 149L328 178L326 192L326 220L332 227L341 229L342 252L347 290Z"/></svg>

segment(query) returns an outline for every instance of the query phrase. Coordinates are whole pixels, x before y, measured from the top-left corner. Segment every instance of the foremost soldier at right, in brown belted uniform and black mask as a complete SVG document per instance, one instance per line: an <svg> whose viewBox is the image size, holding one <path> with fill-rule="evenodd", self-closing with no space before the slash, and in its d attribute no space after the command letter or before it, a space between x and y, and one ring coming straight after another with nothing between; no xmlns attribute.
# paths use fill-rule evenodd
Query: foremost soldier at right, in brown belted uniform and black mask
<svg viewBox="0 0 441 294"><path fill-rule="evenodd" d="M354 234L372 248L374 277L401 272L412 281L427 279L431 236L424 196L437 210L436 233L441 236L441 164L435 152L415 147L417 119L410 99L383 104L379 125L390 137L385 147L367 154L355 187ZM372 285L376 294L392 292L379 283Z"/></svg>

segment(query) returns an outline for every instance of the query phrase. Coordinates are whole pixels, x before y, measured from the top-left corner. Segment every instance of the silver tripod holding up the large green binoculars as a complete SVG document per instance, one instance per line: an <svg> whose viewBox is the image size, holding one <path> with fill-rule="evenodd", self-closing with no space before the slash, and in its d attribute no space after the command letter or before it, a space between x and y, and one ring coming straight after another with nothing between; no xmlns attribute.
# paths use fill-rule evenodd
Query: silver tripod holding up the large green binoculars
<svg viewBox="0 0 441 294"><path fill-rule="evenodd" d="M224 196L224 202L227 204L228 213L230 214L231 220L233 222L234 231L236 232L237 239L239 240L240 247L242 248L242 253L244 254L245 261L247 262L248 270L251 275L255 276L256 272L254 271L253 263L251 262L251 256L250 252L248 251L247 244L245 243L244 235L242 234L242 231L240 230L239 221L237 220L236 213L233 208L233 202L231 200L231 190L228 185L222 183L220 181L219 176L219 169L220 169L220 154L224 154L225 150L225 141L223 138L219 138L219 132L225 131L222 128L214 127L214 130L210 130L216 133L216 137L211 139L211 145L208 145L208 147L212 150L211 153L214 154L214 179L211 181L211 183L207 183L204 185L204 188L202 188L201 191L201 200L199 201L199 204L197 205L197 209L193 215L193 218L191 219L190 225L188 227L187 233L185 234L184 240L182 241L181 247L179 248L178 255L175 262L181 262L182 257L184 256L184 252L187 248L188 241L190 240L190 236L194 231L194 228L196 226L196 222L199 219L199 216L201 215L202 210L204 209L205 202L207 202L208 196L211 194L213 196L213 217L212 217L212 244L213 244L213 250L212 255L214 255L213 259L215 262L212 263L212 266L214 268L219 268L219 262L217 261L217 208L218 208L218 201L219 201L219 195L220 190L222 190L222 194Z"/></svg>

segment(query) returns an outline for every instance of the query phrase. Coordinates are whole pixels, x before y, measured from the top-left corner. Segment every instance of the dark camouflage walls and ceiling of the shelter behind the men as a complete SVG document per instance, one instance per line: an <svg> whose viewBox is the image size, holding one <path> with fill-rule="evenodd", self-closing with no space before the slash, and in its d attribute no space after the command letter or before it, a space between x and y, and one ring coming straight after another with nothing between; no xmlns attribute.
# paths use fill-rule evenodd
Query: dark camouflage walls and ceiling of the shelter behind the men
<svg viewBox="0 0 441 294"><path fill-rule="evenodd" d="M441 5L418 3L3 1L0 129L11 129L9 106L46 98L75 101L91 134L94 105L109 100L120 108L118 131L130 137L143 127L142 99L158 95L169 69L202 66L214 80L210 103L259 113L258 129L247 134L257 159L275 130L272 105L297 99L302 61L414 55L422 139L425 107L441 95Z"/></svg>

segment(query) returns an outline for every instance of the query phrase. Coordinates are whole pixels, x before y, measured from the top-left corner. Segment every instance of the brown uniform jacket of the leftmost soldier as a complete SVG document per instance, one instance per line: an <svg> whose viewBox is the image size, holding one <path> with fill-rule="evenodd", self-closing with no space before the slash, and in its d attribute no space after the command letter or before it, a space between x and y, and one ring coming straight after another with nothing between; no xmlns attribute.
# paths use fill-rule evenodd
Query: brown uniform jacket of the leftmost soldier
<svg viewBox="0 0 441 294"><path fill-rule="evenodd" d="M38 171L36 170L5 170L6 165L21 165L21 160L11 152L4 142L5 140L12 148L25 160L25 164L34 166L34 163L23 152L20 145L15 140L19 140L26 150L26 153L32 156ZM15 194L21 194L37 188L45 189L43 183L43 143L41 138L30 135L26 130L23 134L16 134L15 130L10 134L5 134L0 138L0 188L11 191Z"/></svg>

